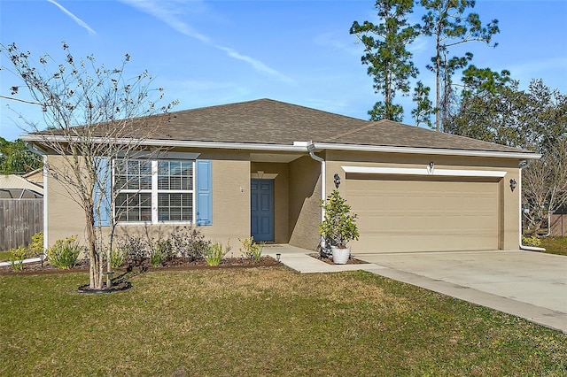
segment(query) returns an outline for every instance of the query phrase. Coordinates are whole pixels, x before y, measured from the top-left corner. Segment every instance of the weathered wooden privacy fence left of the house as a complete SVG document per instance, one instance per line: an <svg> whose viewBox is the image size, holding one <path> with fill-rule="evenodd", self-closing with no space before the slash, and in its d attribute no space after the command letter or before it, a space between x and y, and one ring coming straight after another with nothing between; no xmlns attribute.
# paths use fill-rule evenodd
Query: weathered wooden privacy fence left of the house
<svg viewBox="0 0 567 377"><path fill-rule="evenodd" d="M43 199L0 199L0 250L27 246L43 232Z"/></svg>

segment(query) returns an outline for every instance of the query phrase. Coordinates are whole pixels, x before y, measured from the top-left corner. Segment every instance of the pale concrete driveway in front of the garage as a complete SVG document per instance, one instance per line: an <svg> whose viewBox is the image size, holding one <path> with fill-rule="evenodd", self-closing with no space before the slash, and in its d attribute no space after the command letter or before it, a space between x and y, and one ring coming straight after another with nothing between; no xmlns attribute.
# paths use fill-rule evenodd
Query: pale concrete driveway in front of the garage
<svg viewBox="0 0 567 377"><path fill-rule="evenodd" d="M567 257L524 250L354 255L373 273L567 334Z"/></svg>

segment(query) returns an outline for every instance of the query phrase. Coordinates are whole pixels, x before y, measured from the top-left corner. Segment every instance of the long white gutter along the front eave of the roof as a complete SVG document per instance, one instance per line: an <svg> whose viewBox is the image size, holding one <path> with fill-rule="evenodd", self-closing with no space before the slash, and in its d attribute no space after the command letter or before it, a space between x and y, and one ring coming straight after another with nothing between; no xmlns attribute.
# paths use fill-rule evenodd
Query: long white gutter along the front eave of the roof
<svg viewBox="0 0 567 377"><path fill-rule="evenodd" d="M62 135L21 135L21 140L26 142L66 142L68 140L81 141L78 136L62 136ZM108 138L92 137L89 142L107 143ZM290 144L266 144L253 142L195 142L187 140L167 140L167 139L132 139L122 137L113 139L117 143L136 143L140 146L169 146L169 147L185 147L185 148L211 148L211 149L229 149L229 150L279 150L279 151L305 151L305 147L309 142L293 142ZM392 147L379 145L359 145L359 144L339 144L332 142L313 143L316 150L353 150L353 151L372 151L372 152L388 152L388 153L406 153L406 154L429 154L443 156L469 156L469 157L489 157L489 158L522 158L522 159L539 159L540 154L526 152L503 152L490 150L450 150L436 148L416 148L416 147Z"/></svg>

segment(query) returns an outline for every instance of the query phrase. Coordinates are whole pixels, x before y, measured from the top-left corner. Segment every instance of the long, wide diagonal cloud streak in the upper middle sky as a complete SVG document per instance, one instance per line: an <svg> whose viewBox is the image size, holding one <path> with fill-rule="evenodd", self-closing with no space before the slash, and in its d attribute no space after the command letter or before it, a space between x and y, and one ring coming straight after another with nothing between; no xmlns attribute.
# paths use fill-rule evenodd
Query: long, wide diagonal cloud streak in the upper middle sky
<svg viewBox="0 0 567 377"><path fill-rule="evenodd" d="M215 44L207 35L198 33L198 31L193 27L190 27L190 25L179 19L179 15L182 12L175 7L175 4L172 4L171 2L157 0L120 0L120 2L128 4L141 12L150 14L156 19L165 22L169 27L175 29L183 35L195 38L199 42L203 42L211 47L214 47L217 50L223 51L230 58L235 58L237 60L244 61L249 65L252 65L252 68L260 73L266 73L270 76L276 77L276 79L280 81L284 81L290 84L293 84L295 82L283 73L278 72L276 69L270 68L268 65L265 65L256 58L243 55L237 50L234 50L230 47ZM183 4L184 2L182 1L181 3Z"/></svg>

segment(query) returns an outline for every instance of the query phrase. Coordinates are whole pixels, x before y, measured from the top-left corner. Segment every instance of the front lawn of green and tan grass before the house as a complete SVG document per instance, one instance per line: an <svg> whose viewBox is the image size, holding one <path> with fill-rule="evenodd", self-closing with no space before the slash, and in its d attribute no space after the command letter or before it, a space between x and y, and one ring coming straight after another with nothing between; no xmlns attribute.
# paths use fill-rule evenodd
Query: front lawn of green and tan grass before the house
<svg viewBox="0 0 567 377"><path fill-rule="evenodd" d="M0 276L0 375L567 375L567 335L372 273Z"/></svg>

